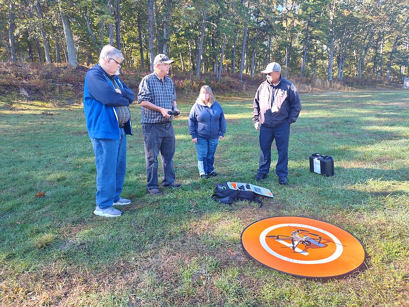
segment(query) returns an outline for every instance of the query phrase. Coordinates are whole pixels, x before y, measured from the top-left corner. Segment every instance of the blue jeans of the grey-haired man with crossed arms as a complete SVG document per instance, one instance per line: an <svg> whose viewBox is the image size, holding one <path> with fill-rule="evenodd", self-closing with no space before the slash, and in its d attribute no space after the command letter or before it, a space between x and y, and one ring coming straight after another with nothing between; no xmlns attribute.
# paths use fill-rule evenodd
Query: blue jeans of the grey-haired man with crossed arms
<svg viewBox="0 0 409 307"><path fill-rule="evenodd" d="M91 138L97 167L97 206L106 209L119 200L126 171L126 134L120 129L120 139Z"/></svg>

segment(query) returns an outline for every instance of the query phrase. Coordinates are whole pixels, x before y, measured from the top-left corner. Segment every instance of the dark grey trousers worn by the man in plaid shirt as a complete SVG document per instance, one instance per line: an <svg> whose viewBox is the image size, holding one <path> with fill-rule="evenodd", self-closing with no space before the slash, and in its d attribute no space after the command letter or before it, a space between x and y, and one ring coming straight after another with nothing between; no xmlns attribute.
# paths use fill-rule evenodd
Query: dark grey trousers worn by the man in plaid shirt
<svg viewBox="0 0 409 307"><path fill-rule="evenodd" d="M146 177L150 190L158 187L157 156L161 154L164 180L162 185L175 182L175 169L173 168L173 156L175 154L175 131L172 122L142 124L142 135L145 143Z"/></svg>

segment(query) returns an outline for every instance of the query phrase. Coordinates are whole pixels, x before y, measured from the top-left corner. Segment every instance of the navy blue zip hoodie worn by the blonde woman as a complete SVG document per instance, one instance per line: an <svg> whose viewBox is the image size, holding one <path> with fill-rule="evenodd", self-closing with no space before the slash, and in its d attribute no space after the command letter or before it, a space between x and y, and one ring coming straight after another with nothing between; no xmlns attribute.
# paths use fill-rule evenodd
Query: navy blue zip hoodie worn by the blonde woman
<svg viewBox="0 0 409 307"><path fill-rule="evenodd" d="M189 134L192 139L197 137L211 140L224 137L226 120L221 105L215 101L212 106L195 103L189 114Z"/></svg>

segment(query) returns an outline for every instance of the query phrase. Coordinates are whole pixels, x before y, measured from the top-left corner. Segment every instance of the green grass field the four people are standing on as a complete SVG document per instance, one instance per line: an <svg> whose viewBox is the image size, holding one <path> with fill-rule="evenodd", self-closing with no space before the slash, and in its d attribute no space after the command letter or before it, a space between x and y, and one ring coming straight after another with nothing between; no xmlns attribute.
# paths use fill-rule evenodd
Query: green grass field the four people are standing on
<svg viewBox="0 0 409 307"><path fill-rule="evenodd" d="M117 218L93 214L96 168L82 107L0 98L0 305L409 306L409 92L301 97L289 184L279 186L271 169L262 185L275 198L262 208L210 198L216 183L254 183L251 99L218 97L228 133L216 153L220 176L209 180L198 178L188 135L192 101L179 99L174 163L184 186L162 196L147 194L140 109L132 105L122 194L132 203ZM334 177L309 171L314 152L334 158ZM259 265L242 250L241 232L277 215L349 231L365 246L365 266L314 280Z"/></svg>

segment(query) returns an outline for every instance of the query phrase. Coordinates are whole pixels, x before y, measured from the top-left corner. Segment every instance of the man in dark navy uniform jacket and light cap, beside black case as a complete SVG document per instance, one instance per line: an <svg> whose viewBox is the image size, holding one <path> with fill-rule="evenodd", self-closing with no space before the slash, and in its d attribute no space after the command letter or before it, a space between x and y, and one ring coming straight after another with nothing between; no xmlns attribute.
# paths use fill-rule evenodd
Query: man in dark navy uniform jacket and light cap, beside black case
<svg viewBox="0 0 409 307"><path fill-rule="evenodd" d="M260 84L253 101L254 127L260 131L259 169L255 180L267 177L271 164L271 144L276 140L276 174L279 184L285 185L288 176L290 124L296 122L300 114L301 100L296 86L281 76L279 63L269 63L262 73L267 80Z"/></svg>

